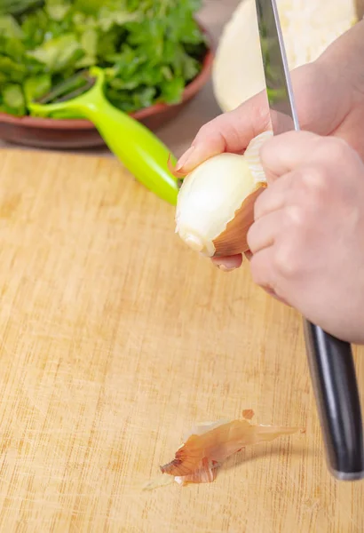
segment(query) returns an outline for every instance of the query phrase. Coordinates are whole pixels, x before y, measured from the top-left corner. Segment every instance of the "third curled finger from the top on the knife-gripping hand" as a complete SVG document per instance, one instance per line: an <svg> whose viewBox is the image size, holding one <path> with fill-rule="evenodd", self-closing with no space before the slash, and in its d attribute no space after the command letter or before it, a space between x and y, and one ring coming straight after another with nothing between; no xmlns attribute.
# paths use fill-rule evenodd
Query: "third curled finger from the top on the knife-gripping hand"
<svg viewBox="0 0 364 533"><path fill-rule="evenodd" d="M273 211L265 217L257 219L249 227L247 241L250 251L257 254L269 246L273 246L278 236L282 235L287 227L287 217L284 210Z"/></svg>

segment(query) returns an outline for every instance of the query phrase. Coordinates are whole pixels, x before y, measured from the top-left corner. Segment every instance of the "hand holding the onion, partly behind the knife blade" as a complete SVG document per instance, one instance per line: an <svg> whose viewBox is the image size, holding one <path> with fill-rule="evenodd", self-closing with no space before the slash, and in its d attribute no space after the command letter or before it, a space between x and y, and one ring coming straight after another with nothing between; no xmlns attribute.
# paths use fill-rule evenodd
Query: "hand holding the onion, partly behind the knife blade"
<svg viewBox="0 0 364 533"><path fill-rule="evenodd" d="M346 140L364 159L364 21L328 47L313 63L295 69L292 84L302 130ZM249 141L271 129L265 91L202 126L176 170L193 171L212 155L241 154ZM242 257L212 259L223 270L240 267Z"/></svg>

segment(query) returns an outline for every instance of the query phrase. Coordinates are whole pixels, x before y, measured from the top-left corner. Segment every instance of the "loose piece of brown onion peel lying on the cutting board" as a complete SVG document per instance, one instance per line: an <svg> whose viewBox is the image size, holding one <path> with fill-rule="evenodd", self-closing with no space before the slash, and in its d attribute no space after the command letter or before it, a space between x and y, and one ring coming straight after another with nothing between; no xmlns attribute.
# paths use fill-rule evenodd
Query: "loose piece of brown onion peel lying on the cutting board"
<svg viewBox="0 0 364 533"><path fill-rule="evenodd" d="M250 424L252 410L244 410L243 420L220 421L196 426L175 458L161 466L162 473L186 483L211 482L216 479L218 466L245 446L275 439L299 431L298 427L254 426Z"/></svg>

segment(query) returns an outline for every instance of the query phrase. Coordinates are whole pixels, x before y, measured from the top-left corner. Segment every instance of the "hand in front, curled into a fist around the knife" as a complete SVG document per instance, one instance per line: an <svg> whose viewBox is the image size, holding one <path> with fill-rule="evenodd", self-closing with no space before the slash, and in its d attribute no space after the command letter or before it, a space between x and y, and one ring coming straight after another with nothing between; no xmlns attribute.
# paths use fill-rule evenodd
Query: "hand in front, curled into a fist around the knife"
<svg viewBox="0 0 364 533"><path fill-rule="evenodd" d="M268 187L248 233L254 281L364 344L364 163L344 140L308 131L268 140L261 158Z"/></svg>

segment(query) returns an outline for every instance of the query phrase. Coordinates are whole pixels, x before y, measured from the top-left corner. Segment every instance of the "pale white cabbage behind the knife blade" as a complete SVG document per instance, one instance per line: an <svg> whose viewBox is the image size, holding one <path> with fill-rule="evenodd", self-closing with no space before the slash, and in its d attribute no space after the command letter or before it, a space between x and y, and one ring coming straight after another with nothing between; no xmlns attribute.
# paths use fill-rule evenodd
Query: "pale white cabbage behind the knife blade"
<svg viewBox="0 0 364 533"><path fill-rule="evenodd" d="M289 68L316 60L357 21L355 0L277 0ZM213 68L223 111L265 88L255 0L242 0L226 24Z"/></svg>

